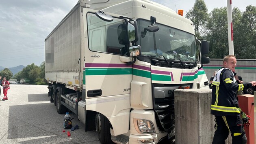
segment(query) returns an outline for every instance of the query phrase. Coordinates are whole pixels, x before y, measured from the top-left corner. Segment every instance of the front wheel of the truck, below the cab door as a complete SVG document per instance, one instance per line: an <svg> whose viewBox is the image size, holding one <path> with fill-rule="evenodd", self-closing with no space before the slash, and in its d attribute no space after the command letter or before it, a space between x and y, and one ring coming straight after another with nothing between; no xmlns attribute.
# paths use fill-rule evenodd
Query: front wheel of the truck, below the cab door
<svg viewBox="0 0 256 144"><path fill-rule="evenodd" d="M111 142L110 123L104 115L96 114L95 129L98 133L100 143L108 144Z"/></svg>

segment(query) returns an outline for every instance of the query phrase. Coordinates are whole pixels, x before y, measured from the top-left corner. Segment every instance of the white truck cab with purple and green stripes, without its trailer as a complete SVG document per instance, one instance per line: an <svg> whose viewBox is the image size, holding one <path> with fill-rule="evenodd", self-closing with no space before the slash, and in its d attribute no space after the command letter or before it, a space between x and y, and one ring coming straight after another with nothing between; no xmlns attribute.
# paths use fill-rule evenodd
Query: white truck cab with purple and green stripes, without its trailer
<svg viewBox="0 0 256 144"><path fill-rule="evenodd" d="M103 117L109 121L117 143L121 138L129 143L174 139L174 90L208 88L201 66L208 62L208 42L195 38L191 21L148 0L88 11L87 17L85 11L90 49L85 60L86 110L98 112L98 125L107 125L98 122ZM196 43L202 45L199 61Z"/></svg>

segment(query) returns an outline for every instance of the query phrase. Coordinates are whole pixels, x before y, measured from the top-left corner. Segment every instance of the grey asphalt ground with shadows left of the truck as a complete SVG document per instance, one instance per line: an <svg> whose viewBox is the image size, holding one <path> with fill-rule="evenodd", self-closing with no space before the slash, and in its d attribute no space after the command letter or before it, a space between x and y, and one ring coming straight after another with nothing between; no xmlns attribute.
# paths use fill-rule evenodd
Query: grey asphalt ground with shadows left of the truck
<svg viewBox="0 0 256 144"><path fill-rule="evenodd" d="M65 114L58 114L50 103L48 86L13 84L10 87L6 101L2 101L1 91L0 144L100 144L96 131L85 132L85 125L74 113L70 114L74 117L72 123L79 129L63 132Z"/></svg>

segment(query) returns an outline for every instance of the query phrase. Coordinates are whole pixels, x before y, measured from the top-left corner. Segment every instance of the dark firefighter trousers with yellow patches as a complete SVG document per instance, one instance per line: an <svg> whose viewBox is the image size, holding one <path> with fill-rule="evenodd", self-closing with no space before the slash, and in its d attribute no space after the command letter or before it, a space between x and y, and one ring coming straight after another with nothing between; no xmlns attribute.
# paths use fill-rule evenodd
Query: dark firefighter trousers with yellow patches
<svg viewBox="0 0 256 144"><path fill-rule="evenodd" d="M229 131L232 136L232 144L247 143L240 114L237 116L215 116L215 129L212 144L225 144Z"/></svg>

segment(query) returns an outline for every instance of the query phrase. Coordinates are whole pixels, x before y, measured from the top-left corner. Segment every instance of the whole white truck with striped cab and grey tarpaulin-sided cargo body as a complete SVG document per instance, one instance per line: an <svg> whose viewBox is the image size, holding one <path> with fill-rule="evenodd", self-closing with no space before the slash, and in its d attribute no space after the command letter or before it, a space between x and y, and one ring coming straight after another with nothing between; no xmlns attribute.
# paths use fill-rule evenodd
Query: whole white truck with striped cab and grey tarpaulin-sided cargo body
<svg viewBox="0 0 256 144"><path fill-rule="evenodd" d="M174 90L208 88L208 51L189 19L156 2L79 0L45 39L49 96L102 144L174 142Z"/></svg>

